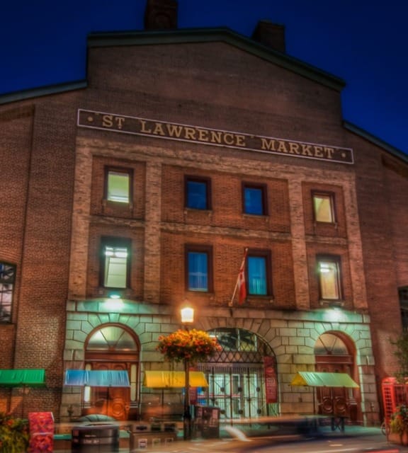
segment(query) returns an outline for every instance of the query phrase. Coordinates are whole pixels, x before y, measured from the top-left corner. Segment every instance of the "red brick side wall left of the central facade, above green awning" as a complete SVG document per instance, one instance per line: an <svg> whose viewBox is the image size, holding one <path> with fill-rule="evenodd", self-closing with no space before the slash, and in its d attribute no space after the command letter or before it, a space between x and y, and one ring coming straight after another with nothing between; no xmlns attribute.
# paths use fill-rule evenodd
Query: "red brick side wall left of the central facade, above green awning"
<svg viewBox="0 0 408 453"><path fill-rule="evenodd" d="M11 368L45 368L46 388L11 410L58 413L75 161L75 108L69 95L33 101L33 115L1 124L0 258L17 264L13 323L0 326L1 354ZM69 108L69 105L72 105ZM31 108L31 103L16 107ZM7 116L14 105L2 108ZM5 134L7 139L4 140ZM6 163L6 165L4 165ZM6 343L8 340L8 343Z"/></svg>

